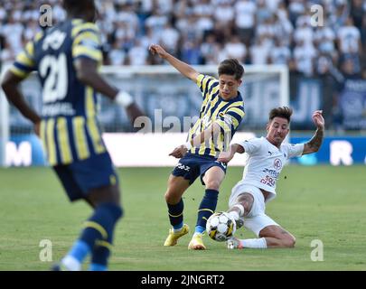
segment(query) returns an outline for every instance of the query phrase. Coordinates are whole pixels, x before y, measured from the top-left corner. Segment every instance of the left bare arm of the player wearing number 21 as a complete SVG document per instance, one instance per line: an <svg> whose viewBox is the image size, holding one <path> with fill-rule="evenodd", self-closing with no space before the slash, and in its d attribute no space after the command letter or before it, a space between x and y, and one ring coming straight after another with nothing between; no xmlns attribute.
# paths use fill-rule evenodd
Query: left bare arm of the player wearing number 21
<svg viewBox="0 0 366 289"><path fill-rule="evenodd" d="M11 70L7 70L4 79L1 81L1 87L9 102L21 112L23 117L33 122L35 133L39 135L41 117L28 105L19 90L19 84L22 81L23 78L16 76Z"/></svg>

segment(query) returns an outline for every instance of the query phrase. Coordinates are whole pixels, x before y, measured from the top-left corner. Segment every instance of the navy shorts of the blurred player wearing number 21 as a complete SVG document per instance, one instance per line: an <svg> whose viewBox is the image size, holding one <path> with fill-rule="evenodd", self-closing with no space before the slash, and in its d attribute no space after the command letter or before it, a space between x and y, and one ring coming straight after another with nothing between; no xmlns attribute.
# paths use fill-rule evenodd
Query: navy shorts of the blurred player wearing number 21
<svg viewBox="0 0 366 289"><path fill-rule="evenodd" d="M89 191L117 184L117 172L108 153L83 161L53 166L71 201L85 199Z"/></svg>

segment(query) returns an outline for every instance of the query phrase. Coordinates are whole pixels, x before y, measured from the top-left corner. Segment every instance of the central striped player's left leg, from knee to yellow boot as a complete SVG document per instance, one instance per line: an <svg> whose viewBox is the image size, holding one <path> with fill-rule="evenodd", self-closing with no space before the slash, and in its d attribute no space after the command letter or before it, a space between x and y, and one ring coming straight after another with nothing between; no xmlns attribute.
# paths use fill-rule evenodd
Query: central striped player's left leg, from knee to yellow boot
<svg viewBox="0 0 366 289"><path fill-rule="evenodd" d="M169 219L173 228L165 239L164 246L170 247L177 244L178 238L183 237L189 231L188 225L183 224L183 200L184 191L188 189L190 182L183 177L170 175L168 188L165 192L165 200L168 206Z"/></svg>

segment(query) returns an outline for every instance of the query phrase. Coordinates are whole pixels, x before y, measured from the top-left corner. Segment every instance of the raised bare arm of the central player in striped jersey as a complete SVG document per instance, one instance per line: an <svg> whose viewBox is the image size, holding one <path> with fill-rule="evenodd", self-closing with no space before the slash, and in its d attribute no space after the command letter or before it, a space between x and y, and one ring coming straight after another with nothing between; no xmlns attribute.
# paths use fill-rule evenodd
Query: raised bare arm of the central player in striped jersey
<svg viewBox="0 0 366 289"><path fill-rule="evenodd" d="M172 54L164 51L164 49L157 44L150 45L150 52L159 55L160 58L168 61L176 70L181 72L186 78L192 79L192 81L196 82L197 77L200 73L192 68L192 66L187 63L176 59Z"/></svg>

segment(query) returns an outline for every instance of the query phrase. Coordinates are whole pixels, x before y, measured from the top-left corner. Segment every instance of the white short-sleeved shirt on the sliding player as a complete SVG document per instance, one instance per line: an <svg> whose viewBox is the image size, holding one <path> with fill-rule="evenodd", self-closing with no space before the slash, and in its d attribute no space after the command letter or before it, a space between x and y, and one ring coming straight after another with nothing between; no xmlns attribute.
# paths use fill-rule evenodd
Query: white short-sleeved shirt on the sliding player
<svg viewBox="0 0 366 289"><path fill-rule="evenodd" d="M268 191L267 201L276 197L276 182L286 161L291 157L302 155L304 151L304 144L281 144L278 149L263 136L238 144L249 155L240 183Z"/></svg>

